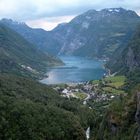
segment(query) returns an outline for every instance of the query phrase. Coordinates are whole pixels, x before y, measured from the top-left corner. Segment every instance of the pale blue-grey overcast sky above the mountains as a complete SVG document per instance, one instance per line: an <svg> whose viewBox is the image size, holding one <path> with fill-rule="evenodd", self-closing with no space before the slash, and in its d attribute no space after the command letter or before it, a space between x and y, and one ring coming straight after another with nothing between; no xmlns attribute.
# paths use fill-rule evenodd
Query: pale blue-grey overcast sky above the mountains
<svg viewBox="0 0 140 140"><path fill-rule="evenodd" d="M89 9L122 7L140 15L140 0L0 0L0 18L51 30Z"/></svg>

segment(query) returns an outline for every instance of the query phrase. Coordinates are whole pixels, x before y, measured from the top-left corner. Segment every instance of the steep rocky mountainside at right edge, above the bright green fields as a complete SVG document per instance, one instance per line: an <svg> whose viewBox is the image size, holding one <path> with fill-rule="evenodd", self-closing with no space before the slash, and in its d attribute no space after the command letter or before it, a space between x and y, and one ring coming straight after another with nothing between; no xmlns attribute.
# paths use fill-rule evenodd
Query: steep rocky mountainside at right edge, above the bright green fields
<svg viewBox="0 0 140 140"><path fill-rule="evenodd" d="M140 26L130 39L124 50L117 50L108 62L107 66L112 73L131 72L140 68Z"/></svg>

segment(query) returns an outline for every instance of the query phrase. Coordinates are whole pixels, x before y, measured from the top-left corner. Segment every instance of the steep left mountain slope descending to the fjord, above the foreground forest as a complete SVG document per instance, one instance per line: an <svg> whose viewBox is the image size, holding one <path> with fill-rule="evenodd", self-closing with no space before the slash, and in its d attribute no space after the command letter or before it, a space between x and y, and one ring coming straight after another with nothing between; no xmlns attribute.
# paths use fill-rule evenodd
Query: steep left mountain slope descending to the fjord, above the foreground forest
<svg viewBox="0 0 140 140"><path fill-rule="evenodd" d="M55 57L39 51L21 35L0 24L0 72L39 76L48 66L62 64Z"/></svg>

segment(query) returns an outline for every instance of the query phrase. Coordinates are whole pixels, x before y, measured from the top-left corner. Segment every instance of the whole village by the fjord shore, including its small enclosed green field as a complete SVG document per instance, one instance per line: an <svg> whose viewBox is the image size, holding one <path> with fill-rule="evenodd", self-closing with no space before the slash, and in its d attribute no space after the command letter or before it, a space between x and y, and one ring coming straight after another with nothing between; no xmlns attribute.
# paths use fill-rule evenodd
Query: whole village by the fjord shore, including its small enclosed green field
<svg viewBox="0 0 140 140"><path fill-rule="evenodd" d="M115 95L97 92L99 84L93 84L91 82L81 82L81 83L68 83L65 85L55 85L53 87L59 94L65 98L77 98L83 101L86 105L89 100L94 100L94 102L110 101Z"/></svg>

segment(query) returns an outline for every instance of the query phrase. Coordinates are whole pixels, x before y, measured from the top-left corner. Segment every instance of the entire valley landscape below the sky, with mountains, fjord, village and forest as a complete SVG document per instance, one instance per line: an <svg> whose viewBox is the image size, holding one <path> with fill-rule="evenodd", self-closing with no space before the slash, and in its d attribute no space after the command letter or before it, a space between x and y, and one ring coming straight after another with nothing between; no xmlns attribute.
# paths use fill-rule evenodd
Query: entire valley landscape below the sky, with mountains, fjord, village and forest
<svg viewBox="0 0 140 140"><path fill-rule="evenodd" d="M139 60L132 10L51 31L0 20L0 140L140 140Z"/></svg>

